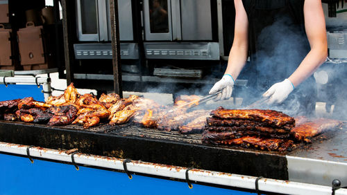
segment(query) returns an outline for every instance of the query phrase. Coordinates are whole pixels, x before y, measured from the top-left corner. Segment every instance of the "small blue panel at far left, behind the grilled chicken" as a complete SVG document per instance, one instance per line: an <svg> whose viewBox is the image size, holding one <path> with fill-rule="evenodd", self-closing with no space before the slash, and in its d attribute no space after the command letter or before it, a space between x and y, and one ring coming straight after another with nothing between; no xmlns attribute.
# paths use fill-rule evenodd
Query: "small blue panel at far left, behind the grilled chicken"
<svg viewBox="0 0 347 195"><path fill-rule="evenodd" d="M6 87L0 84L0 101L14 100L24 97L33 97L36 101L44 101L44 94L41 92L37 85L24 85L24 84L9 84Z"/></svg>

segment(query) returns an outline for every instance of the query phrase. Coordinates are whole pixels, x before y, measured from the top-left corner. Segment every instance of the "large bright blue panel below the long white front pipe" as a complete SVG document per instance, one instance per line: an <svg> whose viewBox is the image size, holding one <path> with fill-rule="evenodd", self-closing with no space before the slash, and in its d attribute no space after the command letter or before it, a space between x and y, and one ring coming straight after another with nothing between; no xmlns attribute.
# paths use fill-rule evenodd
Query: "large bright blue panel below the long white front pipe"
<svg viewBox="0 0 347 195"><path fill-rule="evenodd" d="M0 194L251 194L0 154ZM253 193L252 193L253 194Z"/></svg>

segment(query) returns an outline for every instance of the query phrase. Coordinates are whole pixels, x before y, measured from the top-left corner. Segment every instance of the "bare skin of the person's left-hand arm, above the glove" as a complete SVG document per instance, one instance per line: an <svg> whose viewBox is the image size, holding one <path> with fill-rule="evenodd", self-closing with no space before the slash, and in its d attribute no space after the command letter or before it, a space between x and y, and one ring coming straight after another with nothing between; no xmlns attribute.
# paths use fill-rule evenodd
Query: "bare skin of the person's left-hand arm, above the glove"
<svg viewBox="0 0 347 195"><path fill-rule="evenodd" d="M234 0L234 3L236 11L235 34L225 73L232 75L236 80L248 57L248 17L242 0Z"/></svg>

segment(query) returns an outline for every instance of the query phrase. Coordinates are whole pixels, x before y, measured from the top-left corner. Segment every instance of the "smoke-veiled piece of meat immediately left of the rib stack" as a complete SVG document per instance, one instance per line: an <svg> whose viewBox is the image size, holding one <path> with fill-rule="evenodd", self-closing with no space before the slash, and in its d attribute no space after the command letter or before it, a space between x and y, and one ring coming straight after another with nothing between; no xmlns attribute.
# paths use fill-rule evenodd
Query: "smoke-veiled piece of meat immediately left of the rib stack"
<svg viewBox="0 0 347 195"><path fill-rule="evenodd" d="M164 130L164 131L178 131L178 127L186 124L187 122L191 122L194 120L197 116L208 115L208 111L205 110L198 110L198 111L192 111L189 113L174 113L174 117L167 118L162 117L160 120L158 120L158 129Z"/></svg>

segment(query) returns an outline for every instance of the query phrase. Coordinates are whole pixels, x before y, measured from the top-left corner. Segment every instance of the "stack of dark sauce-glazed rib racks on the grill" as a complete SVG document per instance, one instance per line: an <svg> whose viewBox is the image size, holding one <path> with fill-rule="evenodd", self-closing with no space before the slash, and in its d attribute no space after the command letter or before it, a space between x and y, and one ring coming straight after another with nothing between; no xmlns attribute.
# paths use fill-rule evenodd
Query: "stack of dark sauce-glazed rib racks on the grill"
<svg viewBox="0 0 347 195"><path fill-rule="evenodd" d="M207 118L202 142L285 151L294 147L293 141L289 140L294 126L294 118L278 111L219 107Z"/></svg>

